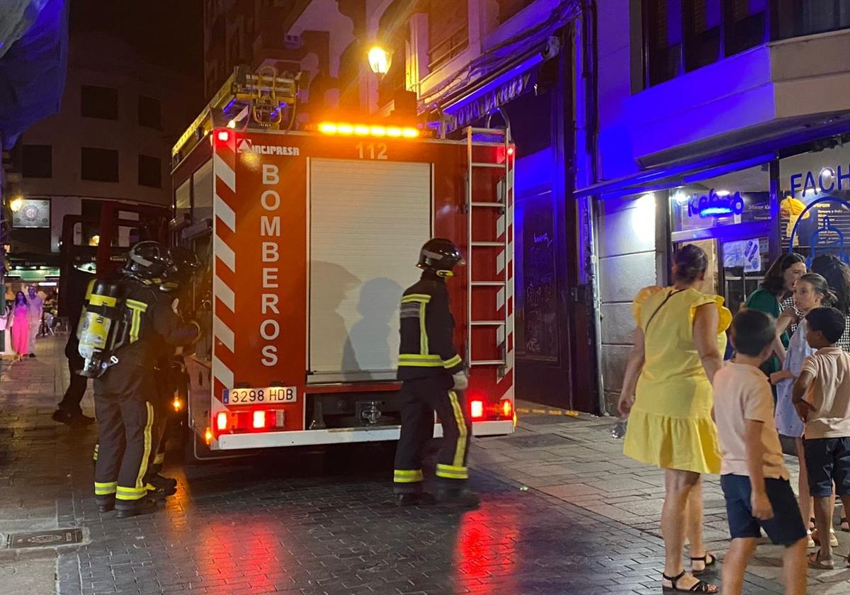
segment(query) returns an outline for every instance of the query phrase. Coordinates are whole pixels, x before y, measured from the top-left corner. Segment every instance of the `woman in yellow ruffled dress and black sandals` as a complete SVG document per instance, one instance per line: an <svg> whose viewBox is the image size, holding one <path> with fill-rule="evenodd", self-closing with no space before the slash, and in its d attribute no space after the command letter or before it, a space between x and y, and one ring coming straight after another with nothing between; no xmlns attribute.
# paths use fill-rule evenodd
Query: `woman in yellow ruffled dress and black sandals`
<svg viewBox="0 0 850 595"><path fill-rule="evenodd" d="M720 473L711 380L723 365L732 314L723 297L694 286L708 258L689 244L676 255L671 287L646 287L632 303L638 323L626 365L620 411L629 416L624 452L665 470L661 534L665 591L717 592L696 576L717 563L702 540L702 473ZM683 569L685 536L691 574Z"/></svg>

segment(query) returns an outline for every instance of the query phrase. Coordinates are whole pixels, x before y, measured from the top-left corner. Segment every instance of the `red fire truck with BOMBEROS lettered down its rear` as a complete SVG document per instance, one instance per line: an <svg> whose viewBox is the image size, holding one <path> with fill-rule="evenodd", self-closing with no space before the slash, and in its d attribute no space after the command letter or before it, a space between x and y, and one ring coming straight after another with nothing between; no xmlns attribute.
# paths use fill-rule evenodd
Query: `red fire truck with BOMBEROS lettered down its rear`
<svg viewBox="0 0 850 595"><path fill-rule="evenodd" d="M432 236L466 260L448 286L473 433L512 433L507 131L446 140L373 122L275 130L268 119L259 129L245 94L248 122L219 127L214 104L232 107L227 97L173 152L174 241L206 265L192 296L204 332L186 362L199 441L241 450L398 439L399 299Z"/></svg>

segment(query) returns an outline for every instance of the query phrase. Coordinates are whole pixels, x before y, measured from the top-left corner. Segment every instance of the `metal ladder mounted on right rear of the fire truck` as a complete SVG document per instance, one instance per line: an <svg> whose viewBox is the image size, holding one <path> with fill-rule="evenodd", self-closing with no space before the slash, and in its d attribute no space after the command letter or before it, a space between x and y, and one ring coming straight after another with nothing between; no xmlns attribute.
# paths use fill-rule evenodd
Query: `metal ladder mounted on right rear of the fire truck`
<svg viewBox="0 0 850 595"><path fill-rule="evenodd" d="M473 150L473 137L484 137L487 142L501 144L503 151L501 157L503 162L496 161L474 161L475 157ZM490 140L491 139L491 140ZM510 128L480 128L467 127L467 365L496 365L498 367L497 378L505 376L507 366L507 335L509 323L508 300L513 296L512 292L508 292L509 284L513 281L509 278L508 261L513 262L513 254L509 251L513 250L513 242L509 241L508 227L509 218L513 217L513 167L511 167L512 145ZM475 176L473 175L479 169L501 169L504 173L503 177L496 186L496 196L482 195L482 190L478 190L478 184L474 183ZM484 210L497 209L500 212L496 219L496 235L494 237L501 240L480 240L473 238L473 229L475 220L479 220L480 213ZM476 217L478 215L478 217ZM495 271L479 271L473 263L477 260L477 255L481 251L495 250L501 248L501 255L496 257ZM486 275L486 273L490 275ZM503 316L499 320L492 318L481 319L476 318L473 311L473 297L479 292L486 291L486 288L498 288L502 300ZM496 309L498 310L498 297L496 300ZM496 329L497 343L501 347L501 357L498 359L476 359L473 354L473 329L480 327L490 327Z"/></svg>

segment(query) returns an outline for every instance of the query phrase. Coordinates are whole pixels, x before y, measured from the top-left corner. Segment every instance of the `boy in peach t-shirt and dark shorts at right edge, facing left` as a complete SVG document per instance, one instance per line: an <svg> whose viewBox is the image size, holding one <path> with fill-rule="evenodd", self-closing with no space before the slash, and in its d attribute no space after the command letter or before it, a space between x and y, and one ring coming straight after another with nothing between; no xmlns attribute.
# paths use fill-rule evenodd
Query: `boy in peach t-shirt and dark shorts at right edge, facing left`
<svg viewBox="0 0 850 595"><path fill-rule="evenodd" d="M835 308L813 309L806 316L806 340L817 349L794 383L793 403L806 423L808 487L820 535L832 528L832 489L850 510L850 354L836 343L844 333L844 315ZM797 332L800 332L797 329ZM816 569L835 567L832 544L821 541L809 558Z"/></svg>

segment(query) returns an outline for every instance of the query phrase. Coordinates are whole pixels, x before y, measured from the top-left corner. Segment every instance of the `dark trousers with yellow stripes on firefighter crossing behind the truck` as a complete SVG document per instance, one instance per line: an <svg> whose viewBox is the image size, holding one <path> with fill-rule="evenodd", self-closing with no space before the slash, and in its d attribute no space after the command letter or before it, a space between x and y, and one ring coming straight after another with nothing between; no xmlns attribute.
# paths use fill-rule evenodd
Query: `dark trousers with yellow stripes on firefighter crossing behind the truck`
<svg viewBox="0 0 850 595"><path fill-rule="evenodd" d="M422 491L422 455L433 438L433 414L443 425L443 445L436 475L450 487L461 487L469 477L467 451L472 423L462 394L451 390L451 377L405 380L401 385L401 435L395 450L396 494Z"/></svg>

